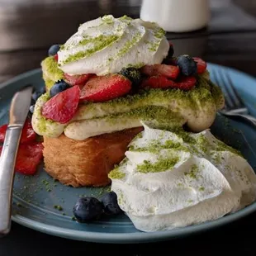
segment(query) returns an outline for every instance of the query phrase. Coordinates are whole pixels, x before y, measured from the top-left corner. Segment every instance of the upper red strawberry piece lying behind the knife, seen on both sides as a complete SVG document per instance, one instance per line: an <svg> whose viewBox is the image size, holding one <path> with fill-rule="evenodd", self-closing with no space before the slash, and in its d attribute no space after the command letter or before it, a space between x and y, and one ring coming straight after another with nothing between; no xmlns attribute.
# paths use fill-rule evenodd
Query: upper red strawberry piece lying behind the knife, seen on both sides
<svg viewBox="0 0 256 256"><path fill-rule="evenodd" d="M0 143L4 141L6 131L7 131L7 125L3 125L0 127ZM35 140L36 140L36 132L32 128L31 119L27 118L21 133L21 144L26 144L28 142L35 141Z"/></svg>

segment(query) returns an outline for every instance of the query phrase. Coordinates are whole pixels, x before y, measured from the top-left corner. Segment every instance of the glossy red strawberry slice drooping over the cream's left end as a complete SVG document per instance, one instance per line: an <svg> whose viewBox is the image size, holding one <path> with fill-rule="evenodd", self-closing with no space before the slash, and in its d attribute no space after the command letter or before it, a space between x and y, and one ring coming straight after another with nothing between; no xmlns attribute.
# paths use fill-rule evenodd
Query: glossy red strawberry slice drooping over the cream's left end
<svg viewBox="0 0 256 256"><path fill-rule="evenodd" d="M42 107L42 115L46 118L65 124L70 121L78 109L80 88L73 86L55 97L50 98Z"/></svg>

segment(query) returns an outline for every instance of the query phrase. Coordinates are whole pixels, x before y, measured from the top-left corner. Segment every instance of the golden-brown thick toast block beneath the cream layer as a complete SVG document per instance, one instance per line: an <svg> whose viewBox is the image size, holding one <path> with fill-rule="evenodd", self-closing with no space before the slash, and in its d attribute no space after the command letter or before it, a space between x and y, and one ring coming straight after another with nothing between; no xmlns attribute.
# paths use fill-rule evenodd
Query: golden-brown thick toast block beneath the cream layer
<svg viewBox="0 0 256 256"><path fill-rule="evenodd" d="M111 181L107 174L125 157L127 145L143 127L71 140L65 135L44 137L45 171L73 187L100 187Z"/></svg>

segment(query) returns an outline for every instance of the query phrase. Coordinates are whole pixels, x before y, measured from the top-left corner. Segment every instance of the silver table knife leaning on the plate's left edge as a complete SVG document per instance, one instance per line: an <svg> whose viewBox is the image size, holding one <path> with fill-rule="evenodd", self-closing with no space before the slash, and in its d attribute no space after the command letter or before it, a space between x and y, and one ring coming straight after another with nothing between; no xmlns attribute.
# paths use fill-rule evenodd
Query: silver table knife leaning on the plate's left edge
<svg viewBox="0 0 256 256"><path fill-rule="evenodd" d="M0 235L11 229L12 186L21 131L31 105L32 87L26 86L12 97L9 124L0 157Z"/></svg>

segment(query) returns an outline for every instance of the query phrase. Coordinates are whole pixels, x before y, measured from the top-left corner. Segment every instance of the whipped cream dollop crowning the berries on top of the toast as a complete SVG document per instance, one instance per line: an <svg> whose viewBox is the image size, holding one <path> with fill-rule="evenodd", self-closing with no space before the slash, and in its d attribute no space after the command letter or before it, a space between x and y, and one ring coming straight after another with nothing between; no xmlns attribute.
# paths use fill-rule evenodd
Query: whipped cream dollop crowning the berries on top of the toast
<svg viewBox="0 0 256 256"><path fill-rule="evenodd" d="M58 64L64 73L105 75L161 64L168 49L165 31L156 23L107 15L79 26L60 48Z"/></svg>

